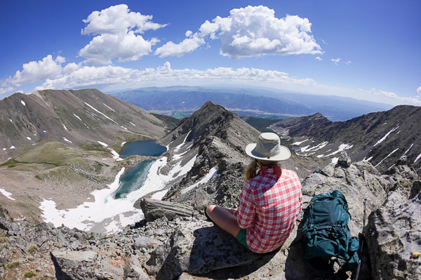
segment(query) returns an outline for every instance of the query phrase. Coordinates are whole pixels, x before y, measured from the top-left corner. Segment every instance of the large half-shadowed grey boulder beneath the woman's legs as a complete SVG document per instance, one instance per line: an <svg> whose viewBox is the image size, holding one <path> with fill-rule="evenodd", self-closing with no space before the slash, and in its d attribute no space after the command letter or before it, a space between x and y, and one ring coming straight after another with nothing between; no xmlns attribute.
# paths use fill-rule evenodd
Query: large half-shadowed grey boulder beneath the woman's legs
<svg viewBox="0 0 421 280"><path fill-rule="evenodd" d="M167 244L156 248L146 262L156 279L175 279L183 272L206 274L216 269L248 265L262 255L248 251L220 227L191 220L177 227Z"/></svg>

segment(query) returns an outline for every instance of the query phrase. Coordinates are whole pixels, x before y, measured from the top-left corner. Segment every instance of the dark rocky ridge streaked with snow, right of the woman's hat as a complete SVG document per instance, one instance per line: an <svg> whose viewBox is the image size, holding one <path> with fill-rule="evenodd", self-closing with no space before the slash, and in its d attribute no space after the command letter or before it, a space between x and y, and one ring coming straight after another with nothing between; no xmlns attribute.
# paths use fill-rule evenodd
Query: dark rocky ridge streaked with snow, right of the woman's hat
<svg viewBox="0 0 421 280"><path fill-rule="evenodd" d="M314 114L283 119L269 128L293 138L298 154L333 158L345 149L352 161L370 161L383 172L406 156L408 166L420 172L420 120L421 107L401 105L348 121L332 122Z"/></svg>

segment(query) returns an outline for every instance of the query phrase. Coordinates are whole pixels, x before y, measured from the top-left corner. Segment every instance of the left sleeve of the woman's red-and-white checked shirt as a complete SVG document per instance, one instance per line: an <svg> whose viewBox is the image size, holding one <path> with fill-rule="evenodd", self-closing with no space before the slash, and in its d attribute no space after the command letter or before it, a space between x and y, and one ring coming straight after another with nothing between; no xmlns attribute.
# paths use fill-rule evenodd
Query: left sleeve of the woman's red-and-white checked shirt
<svg viewBox="0 0 421 280"><path fill-rule="evenodd" d="M255 199L253 187L246 182L240 194L239 208L234 212L239 227L246 229L253 225L255 216Z"/></svg>

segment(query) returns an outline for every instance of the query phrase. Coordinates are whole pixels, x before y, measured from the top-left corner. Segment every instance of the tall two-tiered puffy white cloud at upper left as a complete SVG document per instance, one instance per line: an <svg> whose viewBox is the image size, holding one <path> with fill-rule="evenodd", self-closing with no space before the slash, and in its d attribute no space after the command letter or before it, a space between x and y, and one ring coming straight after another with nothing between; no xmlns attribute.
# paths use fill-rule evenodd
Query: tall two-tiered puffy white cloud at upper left
<svg viewBox="0 0 421 280"><path fill-rule="evenodd" d="M126 4L110 6L102 11L93 11L81 30L83 35L97 35L84 46L79 55L86 58L87 65L107 65L112 59L119 61L138 60L152 52L158 39L144 39L147 30L156 30L166 25L152 22L152 15L130 11Z"/></svg>

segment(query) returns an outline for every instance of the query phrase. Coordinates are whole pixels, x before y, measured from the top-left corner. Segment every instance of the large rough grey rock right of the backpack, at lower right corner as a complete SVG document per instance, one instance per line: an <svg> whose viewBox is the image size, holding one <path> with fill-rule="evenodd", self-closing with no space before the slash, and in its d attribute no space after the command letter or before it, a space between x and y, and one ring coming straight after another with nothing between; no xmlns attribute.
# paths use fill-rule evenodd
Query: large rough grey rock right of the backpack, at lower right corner
<svg viewBox="0 0 421 280"><path fill-rule="evenodd" d="M385 204L368 218L366 241L373 279L421 279L421 194L404 204Z"/></svg>

